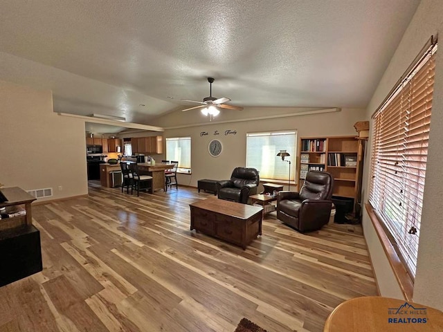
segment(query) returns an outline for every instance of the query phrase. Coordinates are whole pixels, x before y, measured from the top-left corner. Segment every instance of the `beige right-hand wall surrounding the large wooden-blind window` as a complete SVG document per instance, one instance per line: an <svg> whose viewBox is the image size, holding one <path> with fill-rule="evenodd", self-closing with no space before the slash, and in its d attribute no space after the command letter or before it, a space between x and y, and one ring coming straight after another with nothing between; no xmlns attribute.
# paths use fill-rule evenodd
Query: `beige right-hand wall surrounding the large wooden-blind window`
<svg viewBox="0 0 443 332"><path fill-rule="evenodd" d="M419 50L431 35L442 34L443 6L440 0L423 0L410 22L403 39L392 57L377 90L367 109L366 118L379 107L392 86L408 68ZM440 44L442 44L440 42ZM443 50L437 51L431 136L426 169L426 187L422 212L422 227L419 240L419 255L413 299L415 302L443 309L443 223L440 207L443 194L442 141L443 141ZM368 188L369 160L365 162L363 187ZM403 298L392 270L375 234L372 223L365 212L363 229L368 243L372 264L377 275L381 295Z"/></svg>

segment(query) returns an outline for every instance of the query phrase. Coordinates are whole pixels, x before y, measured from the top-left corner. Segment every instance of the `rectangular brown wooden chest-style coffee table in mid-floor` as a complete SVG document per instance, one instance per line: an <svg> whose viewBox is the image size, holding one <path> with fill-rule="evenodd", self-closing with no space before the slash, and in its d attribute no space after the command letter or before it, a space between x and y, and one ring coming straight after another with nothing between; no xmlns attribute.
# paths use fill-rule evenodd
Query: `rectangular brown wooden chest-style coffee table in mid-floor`
<svg viewBox="0 0 443 332"><path fill-rule="evenodd" d="M190 230L198 230L246 249L262 234L262 208L257 206L204 199L191 203Z"/></svg>

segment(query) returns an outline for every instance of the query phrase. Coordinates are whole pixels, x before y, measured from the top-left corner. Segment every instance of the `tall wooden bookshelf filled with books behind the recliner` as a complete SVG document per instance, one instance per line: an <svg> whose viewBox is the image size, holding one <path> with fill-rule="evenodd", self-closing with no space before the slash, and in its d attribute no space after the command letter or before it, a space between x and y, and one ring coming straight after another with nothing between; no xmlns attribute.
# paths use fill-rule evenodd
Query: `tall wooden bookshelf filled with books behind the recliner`
<svg viewBox="0 0 443 332"><path fill-rule="evenodd" d="M355 136L302 137L299 140L298 188L309 170L325 171L334 178L334 196L357 198L361 140Z"/></svg>

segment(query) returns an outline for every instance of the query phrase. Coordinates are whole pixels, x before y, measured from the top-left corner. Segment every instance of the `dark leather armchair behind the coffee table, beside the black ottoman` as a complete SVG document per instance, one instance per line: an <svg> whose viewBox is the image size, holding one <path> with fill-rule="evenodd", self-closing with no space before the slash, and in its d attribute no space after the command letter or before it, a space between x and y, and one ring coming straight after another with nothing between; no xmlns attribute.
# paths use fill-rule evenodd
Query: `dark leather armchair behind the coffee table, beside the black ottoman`
<svg viewBox="0 0 443 332"><path fill-rule="evenodd" d="M218 198L247 204L248 197L257 194L259 182L257 169L235 167L230 180L217 181Z"/></svg>

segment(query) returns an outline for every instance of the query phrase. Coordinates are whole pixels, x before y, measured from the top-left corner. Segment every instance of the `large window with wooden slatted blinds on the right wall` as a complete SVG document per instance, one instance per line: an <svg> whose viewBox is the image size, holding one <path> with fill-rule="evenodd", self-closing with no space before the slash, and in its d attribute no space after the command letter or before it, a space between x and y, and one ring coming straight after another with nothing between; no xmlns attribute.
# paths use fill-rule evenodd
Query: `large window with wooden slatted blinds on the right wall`
<svg viewBox="0 0 443 332"><path fill-rule="evenodd" d="M412 278L417 265L437 45L431 42L425 49L372 116L369 201Z"/></svg>

